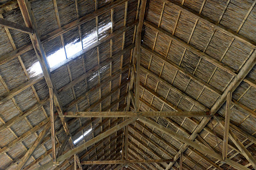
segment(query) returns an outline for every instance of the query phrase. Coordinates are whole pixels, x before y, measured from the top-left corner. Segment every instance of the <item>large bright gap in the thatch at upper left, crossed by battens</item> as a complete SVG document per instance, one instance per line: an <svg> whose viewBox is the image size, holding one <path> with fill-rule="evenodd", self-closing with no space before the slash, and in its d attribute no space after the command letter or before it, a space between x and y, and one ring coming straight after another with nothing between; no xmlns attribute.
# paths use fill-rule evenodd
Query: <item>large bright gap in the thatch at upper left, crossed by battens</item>
<svg viewBox="0 0 256 170"><path fill-rule="evenodd" d="M103 27L100 27L98 30L98 33L102 34L102 33L106 32L108 29L111 28L111 26L112 26L112 23L110 22L110 23L104 25ZM105 36L103 36L103 37L105 37ZM103 37L101 37L101 38L103 38ZM77 43L74 43L74 42L77 42ZM83 50L82 43L80 41L78 41L78 39L76 39L74 42L65 46L68 58ZM92 34L90 34L89 36L87 36L83 39L83 47L84 48L88 47L92 43L95 43L95 42L97 42L97 32L96 31L94 31ZM52 68L53 66L57 65L58 63L60 63L62 61L65 61L66 54L65 54L64 48L61 48L61 49L57 50L55 53L48 56L47 60L48 60L50 68ZM33 66L31 66L28 69L28 72L32 74L32 77L37 76L38 74L41 74L42 69L41 69L39 62L36 62Z"/></svg>

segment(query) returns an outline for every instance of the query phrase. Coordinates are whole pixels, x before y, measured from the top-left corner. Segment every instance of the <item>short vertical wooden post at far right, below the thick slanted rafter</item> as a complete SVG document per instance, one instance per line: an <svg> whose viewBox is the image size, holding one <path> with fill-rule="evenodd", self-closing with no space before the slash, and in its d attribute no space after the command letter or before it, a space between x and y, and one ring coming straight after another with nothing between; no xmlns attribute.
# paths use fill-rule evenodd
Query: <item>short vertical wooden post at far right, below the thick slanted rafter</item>
<svg viewBox="0 0 256 170"><path fill-rule="evenodd" d="M226 102L226 114L225 114L223 149L222 149L223 160L227 159L228 131L229 131L231 98L232 98L232 92L229 92L228 95L227 95L227 102Z"/></svg>

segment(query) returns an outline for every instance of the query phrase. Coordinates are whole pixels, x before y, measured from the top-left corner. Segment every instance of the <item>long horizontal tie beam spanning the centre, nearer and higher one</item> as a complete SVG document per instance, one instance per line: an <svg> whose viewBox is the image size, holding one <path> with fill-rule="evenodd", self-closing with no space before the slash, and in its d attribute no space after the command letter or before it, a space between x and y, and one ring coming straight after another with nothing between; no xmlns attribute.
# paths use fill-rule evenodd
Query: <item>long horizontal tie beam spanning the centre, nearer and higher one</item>
<svg viewBox="0 0 256 170"><path fill-rule="evenodd" d="M200 111L105 111L105 112L65 112L59 117L132 117L132 116L145 116L145 117L209 117L210 112Z"/></svg>

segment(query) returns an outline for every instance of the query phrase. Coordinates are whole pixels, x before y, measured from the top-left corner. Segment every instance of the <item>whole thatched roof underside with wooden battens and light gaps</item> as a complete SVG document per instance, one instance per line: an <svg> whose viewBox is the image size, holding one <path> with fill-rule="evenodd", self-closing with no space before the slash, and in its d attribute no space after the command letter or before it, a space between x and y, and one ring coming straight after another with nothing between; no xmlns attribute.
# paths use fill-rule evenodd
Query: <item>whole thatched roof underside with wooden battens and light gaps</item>
<svg viewBox="0 0 256 170"><path fill-rule="evenodd" d="M33 35L0 26L0 169L17 169L47 128L49 86L55 90L53 111L59 115L55 116L56 152L63 145L62 155L126 118L64 118L60 112L136 112L131 95L137 90L140 111L214 115L149 120L222 155L222 123L227 94L232 92L229 126L237 140L228 139L227 161L141 119L127 125L127 133L120 128L84 147L77 160L121 160L127 146L130 160L173 159L135 163L127 169L178 169L181 153L182 169L238 169L235 163L255 168L256 1L24 1L31 6L33 35L40 38L44 54L35 50ZM19 6L22 0L18 2L1 1L0 18L29 27ZM41 70L40 55L48 57L46 69ZM133 83L136 78L139 82ZM75 142L78 138L82 139ZM23 168L74 169L74 155L57 166L46 166L50 162L49 131ZM79 167L114 169L119 164Z"/></svg>

